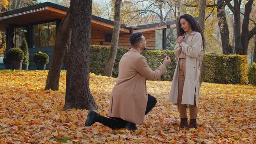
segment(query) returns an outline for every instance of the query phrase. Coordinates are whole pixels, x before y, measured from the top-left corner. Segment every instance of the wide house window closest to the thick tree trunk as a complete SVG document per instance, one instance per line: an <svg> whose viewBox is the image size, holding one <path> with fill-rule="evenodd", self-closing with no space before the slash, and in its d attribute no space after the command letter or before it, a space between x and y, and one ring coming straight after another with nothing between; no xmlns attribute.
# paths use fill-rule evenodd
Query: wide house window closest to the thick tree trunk
<svg viewBox="0 0 256 144"><path fill-rule="evenodd" d="M56 22L33 25L33 48L54 46Z"/></svg>

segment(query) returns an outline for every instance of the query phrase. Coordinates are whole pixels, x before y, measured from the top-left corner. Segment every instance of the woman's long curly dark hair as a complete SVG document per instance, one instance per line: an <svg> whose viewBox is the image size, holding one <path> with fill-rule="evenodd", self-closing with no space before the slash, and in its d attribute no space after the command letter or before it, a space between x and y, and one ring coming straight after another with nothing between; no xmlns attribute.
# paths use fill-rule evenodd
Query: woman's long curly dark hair
<svg viewBox="0 0 256 144"><path fill-rule="evenodd" d="M204 49L205 39L203 36L203 31L202 31L201 27L199 26L199 23L194 19L193 16L191 16L189 14L184 14L180 17L179 22L178 22L178 28L177 28L178 36L182 36L185 33L185 31L181 28L181 19L187 20L188 23L190 23L190 27L193 31L201 33L201 36L203 39L203 49Z"/></svg>

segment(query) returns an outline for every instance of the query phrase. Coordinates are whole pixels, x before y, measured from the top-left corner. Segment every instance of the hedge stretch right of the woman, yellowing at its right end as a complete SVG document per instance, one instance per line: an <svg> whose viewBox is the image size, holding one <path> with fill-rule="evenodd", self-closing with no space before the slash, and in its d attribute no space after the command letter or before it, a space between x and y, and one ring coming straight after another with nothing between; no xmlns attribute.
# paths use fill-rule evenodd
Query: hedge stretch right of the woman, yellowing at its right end
<svg viewBox="0 0 256 144"><path fill-rule="evenodd" d="M247 56L205 54L204 82L247 84Z"/></svg>

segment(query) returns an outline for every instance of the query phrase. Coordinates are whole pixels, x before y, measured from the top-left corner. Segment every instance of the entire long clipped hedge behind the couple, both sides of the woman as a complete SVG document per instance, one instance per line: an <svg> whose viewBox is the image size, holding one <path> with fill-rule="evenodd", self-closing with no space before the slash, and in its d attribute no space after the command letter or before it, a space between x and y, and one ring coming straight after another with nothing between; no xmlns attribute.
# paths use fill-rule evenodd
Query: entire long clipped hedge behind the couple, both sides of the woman
<svg viewBox="0 0 256 144"><path fill-rule="evenodd" d="M109 47L91 46L91 72L96 75L104 73L105 63L108 59ZM118 48L113 77L118 77L118 64L121 57L128 52L128 48ZM146 50L141 52L152 70L158 68L165 55L170 56L171 64L167 66L167 72L161 76L161 81L172 81L177 60L174 52L170 50ZM211 55L205 54L205 82L246 84L248 82L247 56L239 55Z"/></svg>

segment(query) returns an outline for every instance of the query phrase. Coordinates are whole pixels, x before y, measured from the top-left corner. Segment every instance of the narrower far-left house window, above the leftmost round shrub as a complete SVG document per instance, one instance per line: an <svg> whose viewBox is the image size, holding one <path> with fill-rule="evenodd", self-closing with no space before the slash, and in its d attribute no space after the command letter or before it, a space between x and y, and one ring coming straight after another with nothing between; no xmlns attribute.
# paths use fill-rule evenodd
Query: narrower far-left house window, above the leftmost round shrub
<svg viewBox="0 0 256 144"><path fill-rule="evenodd" d="M19 48L21 46L22 39L26 38L26 36L27 36L26 27L19 27L14 29L13 43L15 44L16 48Z"/></svg>

